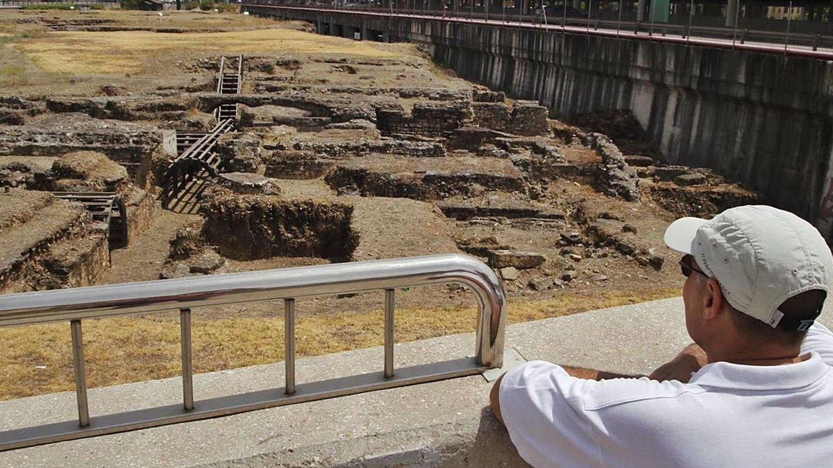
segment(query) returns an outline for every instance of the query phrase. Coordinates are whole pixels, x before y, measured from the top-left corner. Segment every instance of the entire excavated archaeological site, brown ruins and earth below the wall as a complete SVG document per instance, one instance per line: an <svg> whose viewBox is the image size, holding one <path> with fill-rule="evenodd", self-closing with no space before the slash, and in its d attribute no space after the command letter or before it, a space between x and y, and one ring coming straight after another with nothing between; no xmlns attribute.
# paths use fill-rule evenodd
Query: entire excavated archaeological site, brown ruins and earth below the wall
<svg viewBox="0 0 833 468"><path fill-rule="evenodd" d="M5 17L3 27L37 34L3 46L22 72L3 77L0 96L0 292L465 253L496 271L518 306L510 321L525 321L675 296L666 224L762 201L716 172L667 163L629 112L554 120L418 47L325 37L314 50L305 23L242 18L206 28L185 17L176 27ZM96 44L102 31L252 40L232 52L170 44L125 64L105 62L120 42ZM43 45L54 34L66 47ZM401 296L435 315L406 339L471 329L442 323L440 306L462 294L445 289ZM304 313L379 306L344 296ZM257 304L207 320L251 326L270 313ZM373 342L357 340L364 333L328 331L308 352ZM206 352L219 352L212 370L257 362Z"/></svg>

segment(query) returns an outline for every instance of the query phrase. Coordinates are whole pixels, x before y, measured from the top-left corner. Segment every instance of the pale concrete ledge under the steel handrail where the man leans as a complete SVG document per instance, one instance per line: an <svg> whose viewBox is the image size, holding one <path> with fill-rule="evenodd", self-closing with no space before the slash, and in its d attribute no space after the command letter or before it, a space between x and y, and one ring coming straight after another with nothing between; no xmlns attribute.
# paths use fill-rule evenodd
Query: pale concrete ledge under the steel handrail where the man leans
<svg viewBox="0 0 833 468"><path fill-rule="evenodd" d="M833 313L822 322L833 326ZM680 298L509 326L506 346L543 359L647 373L690 340ZM474 334L397 345L397 366L469 356ZM382 348L297 361L298 383L382 367ZM197 401L282 386L282 363L195 376ZM0 466L517 466L506 431L488 409L482 376L373 391L0 453ZM178 378L91 389L93 417L175 404ZM0 431L71 420L63 392L0 402Z"/></svg>

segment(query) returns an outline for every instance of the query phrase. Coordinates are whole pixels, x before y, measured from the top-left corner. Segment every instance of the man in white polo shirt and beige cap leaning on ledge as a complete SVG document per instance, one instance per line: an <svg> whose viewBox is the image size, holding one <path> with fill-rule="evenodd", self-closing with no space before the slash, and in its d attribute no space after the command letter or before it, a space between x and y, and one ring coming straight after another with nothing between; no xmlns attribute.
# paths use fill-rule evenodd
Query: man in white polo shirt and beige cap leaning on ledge
<svg viewBox="0 0 833 468"><path fill-rule="evenodd" d="M509 371L492 408L520 455L533 466L833 465L833 334L814 324L833 256L816 228L736 207L679 219L665 241L684 254L696 345L638 378L543 361Z"/></svg>

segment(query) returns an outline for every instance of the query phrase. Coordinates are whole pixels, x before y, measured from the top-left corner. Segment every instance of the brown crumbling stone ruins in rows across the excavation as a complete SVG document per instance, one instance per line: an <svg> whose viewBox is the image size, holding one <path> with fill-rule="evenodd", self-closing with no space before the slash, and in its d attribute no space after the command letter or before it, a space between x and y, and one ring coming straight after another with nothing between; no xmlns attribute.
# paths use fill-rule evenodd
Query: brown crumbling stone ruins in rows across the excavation
<svg viewBox="0 0 833 468"><path fill-rule="evenodd" d="M217 174L177 194L195 214L171 228L158 277L460 251L511 292L591 287L661 271L656 229L671 217L759 199L664 164L621 113L608 117L611 136L590 117L551 120L536 102L461 80L362 84L415 67L381 59L248 57L242 92L220 94L206 77L217 60L196 62L182 73L197 85L152 95L0 97L0 184L11 187L0 194L0 292L100 281L106 230L51 193L117 193L142 236L167 167L192 144L182 138L210 132L224 104L237 122L212 148Z"/></svg>

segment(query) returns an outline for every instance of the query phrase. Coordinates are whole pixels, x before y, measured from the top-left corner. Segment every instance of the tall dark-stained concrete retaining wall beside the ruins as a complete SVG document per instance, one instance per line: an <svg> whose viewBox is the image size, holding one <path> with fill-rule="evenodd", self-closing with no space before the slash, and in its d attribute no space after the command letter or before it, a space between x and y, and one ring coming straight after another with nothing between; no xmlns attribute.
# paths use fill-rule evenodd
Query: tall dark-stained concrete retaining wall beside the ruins
<svg viewBox="0 0 833 468"><path fill-rule="evenodd" d="M342 24L348 37L373 30L419 43L462 77L539 100L555 117L631 109L670 162L714 168L833 235L831 62L465 22L282 12L316 22L319 31Z"/></svg>

